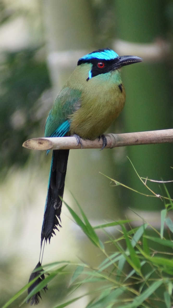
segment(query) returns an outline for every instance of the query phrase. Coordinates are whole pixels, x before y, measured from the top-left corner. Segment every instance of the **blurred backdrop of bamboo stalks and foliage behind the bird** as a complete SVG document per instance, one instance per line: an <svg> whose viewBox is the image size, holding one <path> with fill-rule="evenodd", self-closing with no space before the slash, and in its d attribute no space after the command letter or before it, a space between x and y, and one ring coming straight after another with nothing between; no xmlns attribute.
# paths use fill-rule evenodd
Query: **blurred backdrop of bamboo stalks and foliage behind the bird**
<svg viewBox="0 0 173 308"><path fill-rule="evenodd" d="M145 60L123 68L126 106L108 132L172 128L172 42L173 1L0 1L0 306L27 283L40 249L51 155L22 143L44 136L54 98L78 58L104 47ZM75 207L71 191L93 225L136 218L130 207L159 227L160 200L112 187L99 174L145 193L127 156L140 176L172 179L172 144L71 150L64 199ZM171 194L172 184L167 187ZM78 258L97 264L101 256L93 259L95 249L65 208L62 227L46 246L43 264ZM40 307L61 301L67 285L65 278L52 284Z"/></svg>

